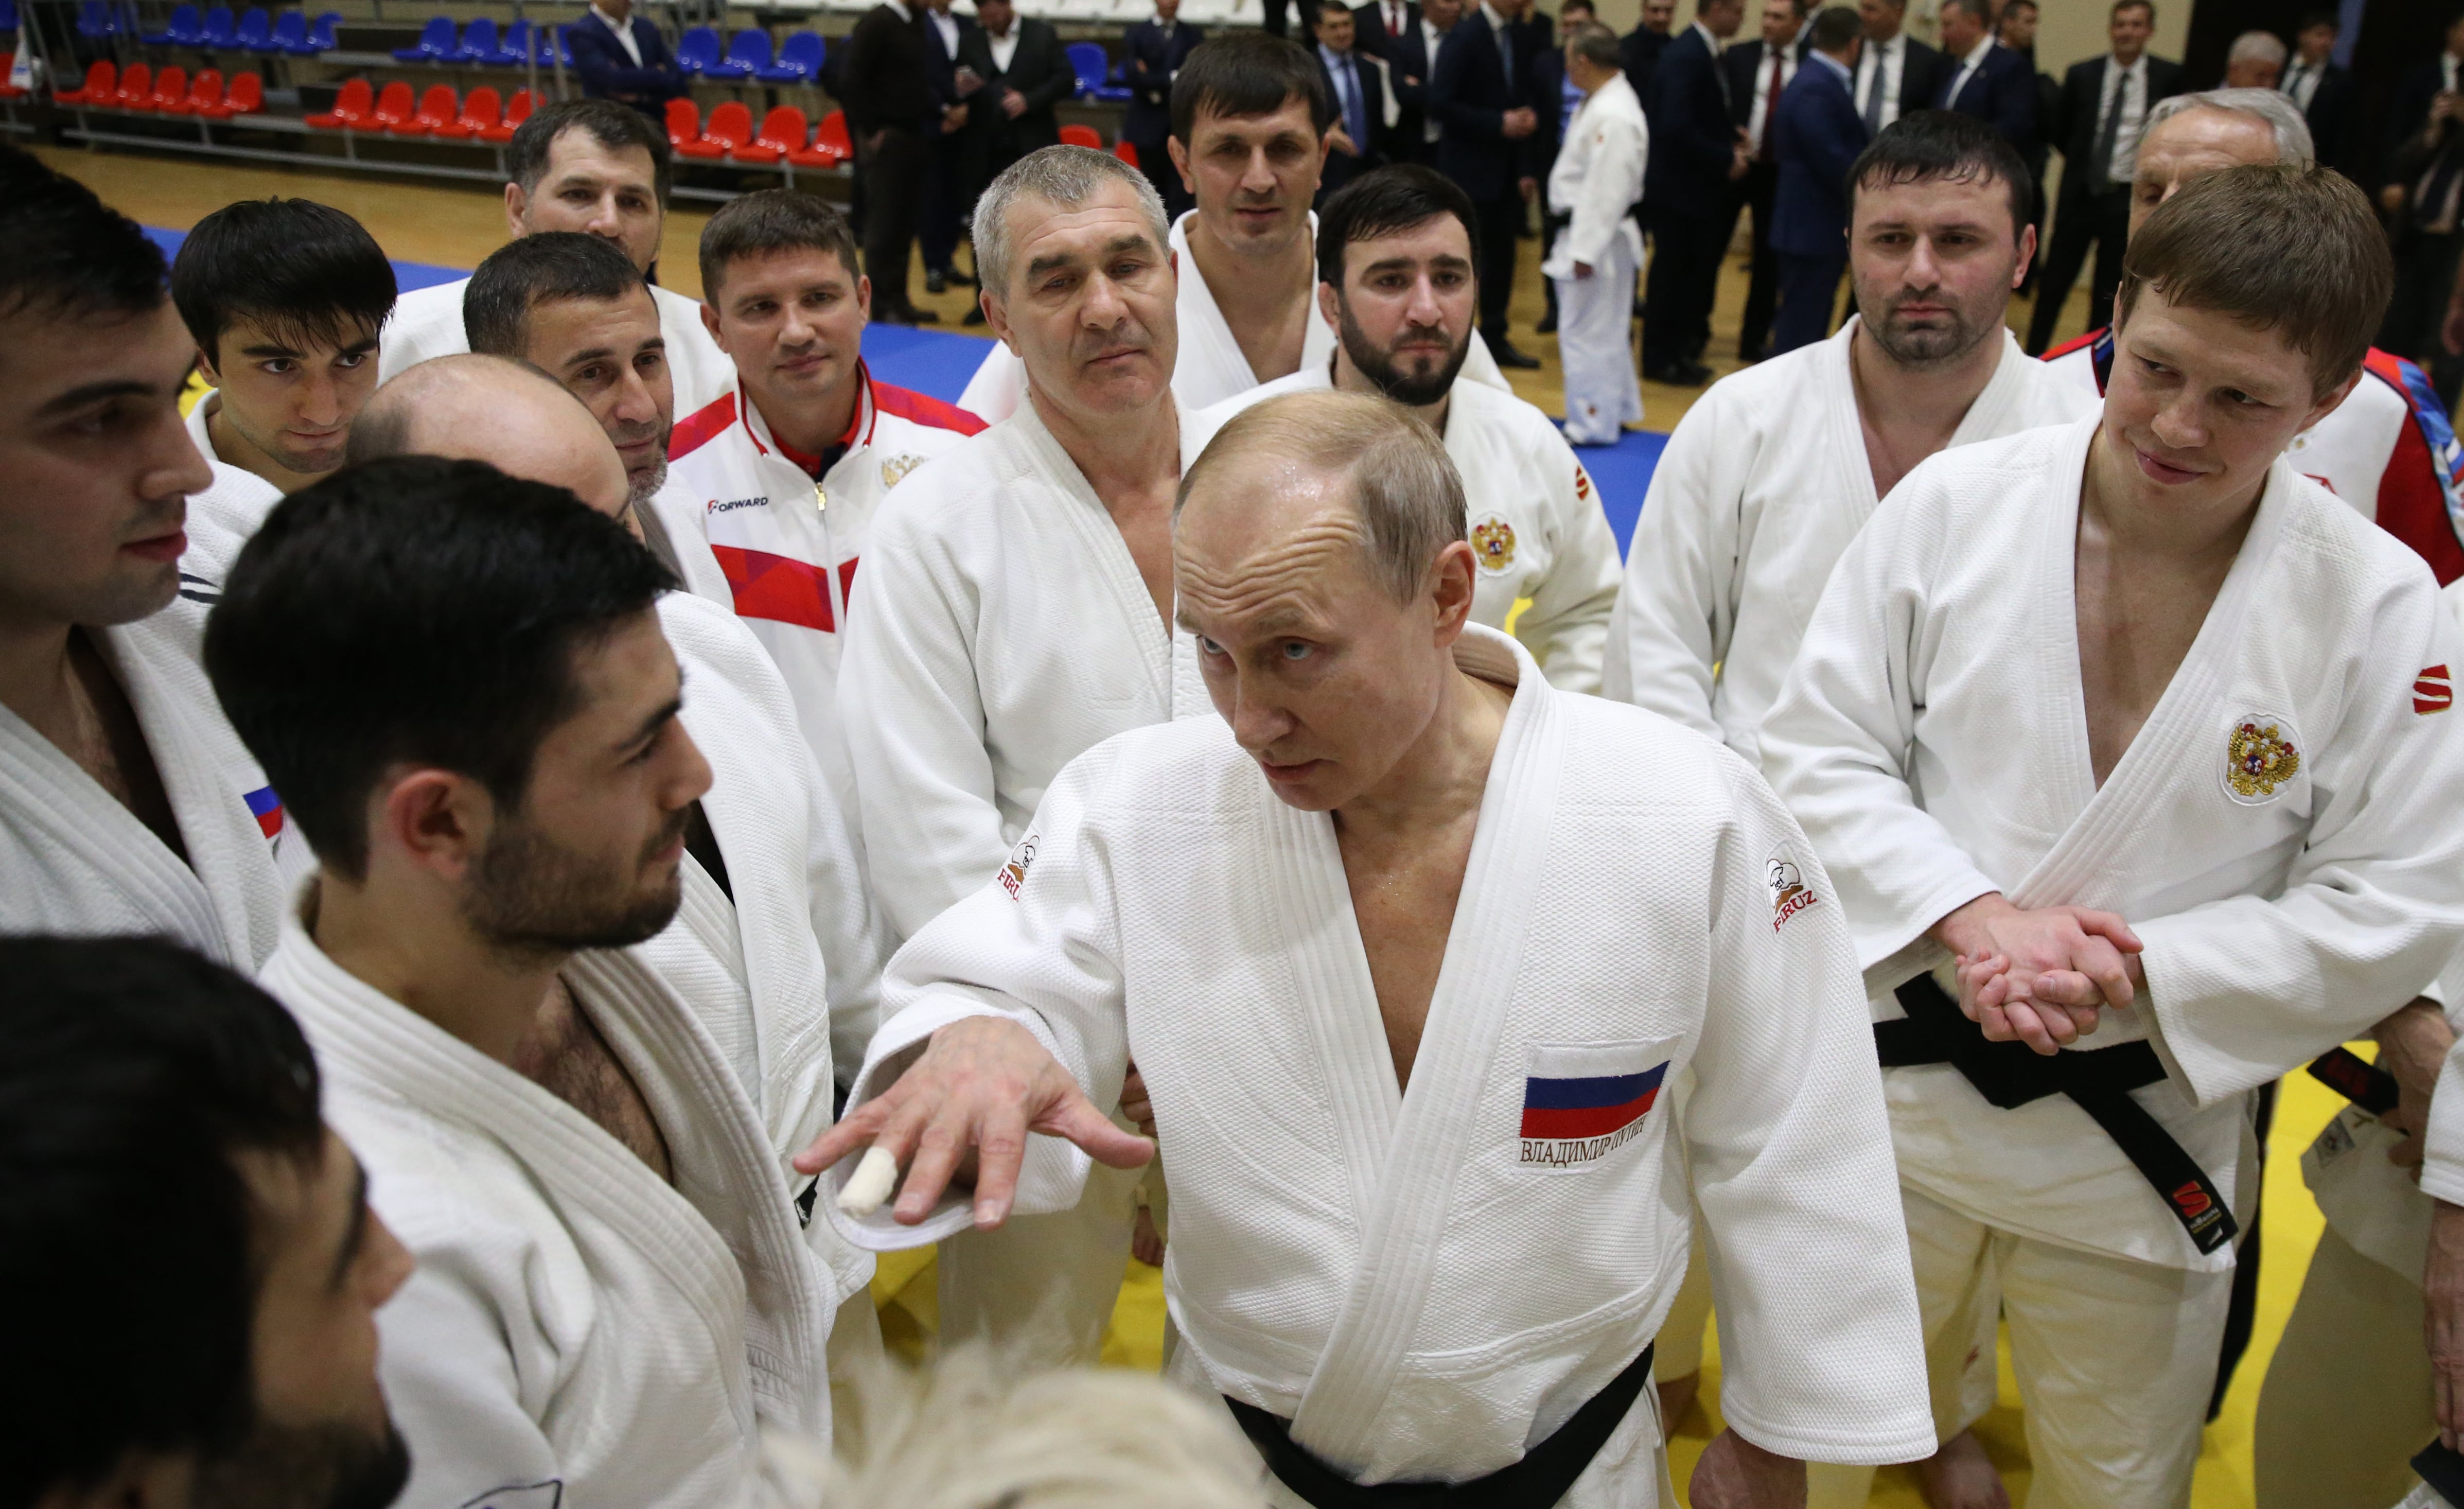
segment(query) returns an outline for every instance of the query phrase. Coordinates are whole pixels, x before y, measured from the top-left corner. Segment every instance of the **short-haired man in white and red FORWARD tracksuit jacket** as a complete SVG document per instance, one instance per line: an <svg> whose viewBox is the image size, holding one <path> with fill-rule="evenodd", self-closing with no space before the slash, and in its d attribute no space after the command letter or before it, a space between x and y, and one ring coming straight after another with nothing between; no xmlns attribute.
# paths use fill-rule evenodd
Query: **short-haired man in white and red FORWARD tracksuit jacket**
<svg viewBox="0 0 2464 1509"><path fill-rule="evenodd" d="M845 811L855 779L838 730L838 658L872 518L907 476L983 422L865 367L872 279L848 219L813 195L761 190L702 227L702 321L734 362L719 397L678 422L663 513L690 582L710 552L722 604L779 661L796 715Z"/></svg>

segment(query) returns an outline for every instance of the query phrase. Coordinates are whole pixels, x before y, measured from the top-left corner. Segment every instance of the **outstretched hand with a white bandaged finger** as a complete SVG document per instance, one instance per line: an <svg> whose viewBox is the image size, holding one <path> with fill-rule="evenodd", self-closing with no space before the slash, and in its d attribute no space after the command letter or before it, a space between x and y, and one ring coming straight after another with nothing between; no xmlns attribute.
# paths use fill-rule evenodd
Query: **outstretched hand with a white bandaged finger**
<svg viewBox="0 0 2464 1509"><path fill-rule="evenodd" d="M1008 1221L1027 1132L1067 1137L1099 1164L1138 1169L1156 1144L1121 1132L1069 1078L1035 1033L1003 1016L968 1016L936 1031L890 1090L796 1154L796 1171L821 1174L860 1147L907 1166L894 1216L917 1225L954 1181L976 1186L976 1228ZM973 1169L968 1171L968 1164Z"/></svg>

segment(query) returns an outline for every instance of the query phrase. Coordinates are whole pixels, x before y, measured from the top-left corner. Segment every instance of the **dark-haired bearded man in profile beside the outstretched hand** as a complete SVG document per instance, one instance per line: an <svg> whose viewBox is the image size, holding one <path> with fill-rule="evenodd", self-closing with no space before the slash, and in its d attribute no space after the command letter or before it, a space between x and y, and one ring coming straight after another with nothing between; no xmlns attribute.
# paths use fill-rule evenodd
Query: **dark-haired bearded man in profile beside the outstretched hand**
<svg viewBox="0 0 2464 1509"><path fill-rule="evenodd" d="M828 1440L828 1275L636 947L710 789L668 587L562 488L399 456L286 498L207 629L320 861L261 979L419 1258L379 1317L419 1509L724 1504L764 1425Z"/></svg>

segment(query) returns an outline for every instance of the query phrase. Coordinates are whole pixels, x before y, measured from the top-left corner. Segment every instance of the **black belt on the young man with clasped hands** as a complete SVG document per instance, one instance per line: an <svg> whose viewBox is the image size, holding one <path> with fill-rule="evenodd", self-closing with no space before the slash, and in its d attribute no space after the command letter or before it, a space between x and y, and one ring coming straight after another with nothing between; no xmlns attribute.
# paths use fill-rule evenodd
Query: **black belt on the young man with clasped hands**
<svg viewBox="0 0 2464 1509"><path fill-rule="evenodd" d="M1988 1043L1984 1028L1959 1011L1932 974L1919 974L1895 994L1907 1018L1873 1023L1873 1048L1882 1068L1949 1063L2001 1110L2067 1095L2104 1127L2200 1253L2213 1253L2235 1238L2240 1225L2215 1181L2146 1107L2131 1100L2131 1090L2166 1078L2156 1048L2124 1043L2097 1053L2045 1055L2025 1043Z"/></svg>

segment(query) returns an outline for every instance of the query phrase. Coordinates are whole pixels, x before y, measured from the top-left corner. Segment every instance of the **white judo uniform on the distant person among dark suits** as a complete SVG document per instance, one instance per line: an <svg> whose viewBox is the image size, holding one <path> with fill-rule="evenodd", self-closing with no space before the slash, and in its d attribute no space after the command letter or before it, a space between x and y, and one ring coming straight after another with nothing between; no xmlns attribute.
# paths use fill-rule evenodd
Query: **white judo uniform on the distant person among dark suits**
<svg viewBox="0 0 2464 1509"><path fill-rule="evenodd" d="M1565 362L1565 439L1614 446L1643 419L1634 385L1634 274L1643 232L1631 210L1643 200L1651 126L1634 84L1616 74L1574 108L1547 175L1547 207L1567 215L1540 274L1557 284L1557 358ZM1574 264L1592 269L1577 279Z"/></svg>

